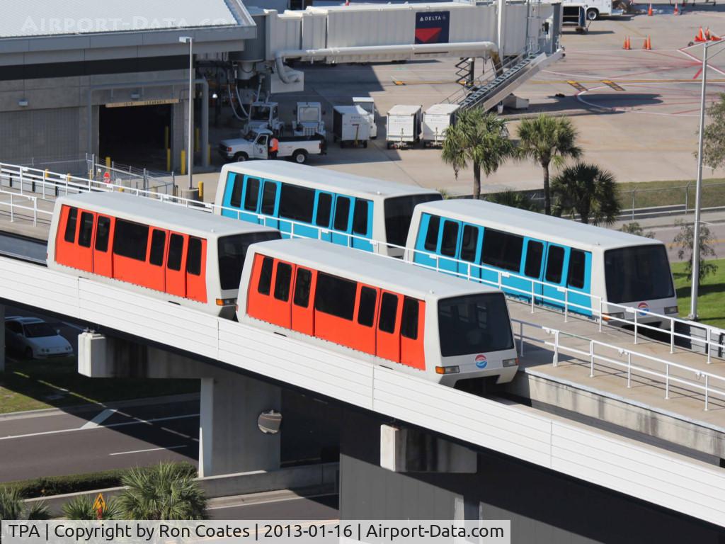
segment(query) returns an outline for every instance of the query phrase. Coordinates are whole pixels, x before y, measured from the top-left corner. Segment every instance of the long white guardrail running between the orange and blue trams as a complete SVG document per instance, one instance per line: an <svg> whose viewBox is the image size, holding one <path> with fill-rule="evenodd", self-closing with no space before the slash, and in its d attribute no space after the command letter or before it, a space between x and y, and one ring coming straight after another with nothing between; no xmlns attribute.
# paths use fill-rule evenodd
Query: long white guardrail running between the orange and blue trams
<svg viewBox="0 0 725 544"><path fill-rule="evenodd" d="M691 321L687 321L686 319L680 319L673 316L666 316L663 314L658 314L651 312L650 310L644 310L640 308L632 308L631 306L616 304L614 302L608 302L602 297L584 293L581 291L577 291L576 289L568 289L567 287L558 287L558 286L552 286L551 284L547 284L544 281L540 281L537 279L531 279L528 276L521 276L520 274L512 273L512 272L505 272L500 271L497 268L492 268L490 266L486 265L480 265L475 263L469 263L468 261L463 260L457 260L453 259L451 257L443 257L440 255L434 255L428 252L421 252L419 250L408 250L405 247L398 246L395 244L388 244L386 242L381 242L374 239L365 238L363 236L357 236L355 234L347 234L347 233L341 233L339 231L331 231L331 229L321 228L318 226L311 226L307 223L299 223L297 221L292 221L285 218L276 218L271 215L264 215L264 214L253 214L251 212L248 212L246 210L239 210L236 208L231 207L224 207L220 205L212 204L211 202L199 202L197 200L192 199L185 199L182 197L175 197L173 195L168 194L162 194L158 193L154 190L144 190L144 189L134 189L129 188L125 186L115 185L112 183L105 183L104 181L96 181L93 179L86 179L86 178L79 178L76 176L70 176L70 174L59 174L50 172L49 170L38 170L36 168L28 168L25 166L18 166L18 165L10 165L7 163L0 162L0 183L3 181L8 181L9 184L14 187L16 184L19 185L19 192L17 194L25 195L27 192L32 192L33 194L39 194L41 195L41 199L48 200L48 197L57 197L62 196L64 194L78 194L80 192L86 192L86 191L123 191L128 194L134 194L138 197L149 197L161 200L162 202L168 202L173 205L179 205L183 207L193 207L196 210L202 210L206 211L208 213L214 213L216 210L223 210L229 213L236 214L237 218L239 218L242 214L244 215L257 215L257 221L259 223L265 223L265 221L280 221L282 223L289 223L290 225L290 231L285 232L284 234L287 234L291 237L309 237L309 236L302 236L295 233L295 228L305 228L306 231L309 231L310 228L316 228L318 230L318 237L321 239L323 235L330 234L331 232L334 232L334 234L338 236L346 236L347 237L347 245L349 247L352 247L353 242L363 242L365 244L370 244L373 246L373 252L380 254L381 248L393 248L402 252L407 252L408 255L410 255L411 252L413 252L413 255L421 254L425 255L428 259L435 261L435 266L428 266L423 265L421 263L413 263L415 265L421 266L422 268L428 268L435 271L444 271L444 273L450 273L454 276L458 276L460 278L468 279L471 281L479 281L483 284L488 284L492 287L497 287L498 289L505 289L507 294L511 295L513 292L514 297L518 297L519 299L525 298L529 301L531 305L531 313L534 313L534 308L537 305L537 300L540 300L542 302L546 302L547 305L553 306L555 308L560 308L563 310L564 315L564 322L566 323L568 321L569 313L573 311L573 313L579 314L579 316L586 315L586 313L591 313L592 318L595 319L595 321L598 323L599 331L602 331L602 324L608 323L621 323L626 325L634 326L634 344L637 345L637 342L639 341L639 332L641 329L649 330L649 331L657 331L659 333L666 332L669 336L669 344L670 344L670 353L675 353L675 339L679 338L684 340L685 342L689 342L690 345L699 345L703 346L705 348L705 351L707 352L707 361L708 363L711 363L712 360L712 354L713 351L717 354L717 358L725 358L725 334L722 334L724 337L723 341L720 341L717 338L713 339L713 335L718 337L721 334L721 331L719 329L716 329L716 327L704 325L701 323L692 323ZM7 203L6 203L7 204ZM13 205L10 205L11 207L11 214L13 210ZM20 210L26 210L26 208L22 208L19 205L14 205L16 209ZM37 222L37 215L38 213L41 213L43 215L51 216L52 212L49 210L41 210L38 209L37 202L33 202L33 218L34 222ZM14 215L14 214L12 214ZM387 256L387 255L383 255ZM391 257L392 258L392 257ZM457 271L451 271L449 269L444 269L441 266L441 262L444 263L455 263L455 268ZM467 273L462 273L458 270L461 268L464 268L467 270ZM496 280L486 280L482 279L482 272L488 272L493 273L496 275ZM477 274L477 275L476 275ZM531 285L531 289L521 289L519 287L513 287L511 285L505 284L503 281L504 279L518 279L521 281L526 281L528 284ZM557 292L563 294L563 300L561 300L558 297L552 297L549 294L544 294L543 287L553 287L557 290ZM539 287L540 289L537 289ZM538 292L537 292L538 291ZM592 301L591 305L581 305L576 302L571 302L570 297L571 295L575 295L576 297L589 297L589 299ZM608 312L605 312L605 308L608 310ZM612 312L612 308L616 310L621 310L617 312ZM584 314L583 314L584 312ZM621 313L624 314L624 316L631 315L632 318L621 318L614 316L613 313ZM666 326L660 327L655 326L650 323L642 323L643 318L653 318L658 321L661 321L662 323L667 323ZM676 323L681 323L682 326L689 327L691 326L697 326L699 329L704 329L705 334L703 337L697 337L693 336L692 334L687 334L685 332L679 332L676 331ZM687 347L677 346L681 347L683 349L687 349Z"/></svg>

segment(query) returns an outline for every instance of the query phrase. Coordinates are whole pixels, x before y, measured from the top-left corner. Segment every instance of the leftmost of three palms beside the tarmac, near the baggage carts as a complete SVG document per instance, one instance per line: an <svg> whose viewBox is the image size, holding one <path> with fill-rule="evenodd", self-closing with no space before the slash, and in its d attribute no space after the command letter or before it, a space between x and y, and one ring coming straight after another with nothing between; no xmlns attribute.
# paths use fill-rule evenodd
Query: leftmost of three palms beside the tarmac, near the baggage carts
<svg viewBox="0 0 725 544"><path fill-rule="evenodd" d="M508 137L506 121L481 108L464 110L455 125L448 128L443 141L443 162L452 165L455 177L473 163L473 198L481 197L481 169L486 176L494 173L515 147Z"/></svg>

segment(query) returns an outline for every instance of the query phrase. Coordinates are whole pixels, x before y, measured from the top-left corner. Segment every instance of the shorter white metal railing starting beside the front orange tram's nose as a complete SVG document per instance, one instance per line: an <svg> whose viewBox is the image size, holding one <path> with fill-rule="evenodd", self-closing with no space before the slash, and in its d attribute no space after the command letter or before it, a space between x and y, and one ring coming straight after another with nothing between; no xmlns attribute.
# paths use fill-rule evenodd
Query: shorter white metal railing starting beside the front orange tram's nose
<svg viewBox="0 0 725 544"><path fill-rule="evenodd" d="M711 372L701 371L691 366L682 365L680 363L673 363L672 361L661 359L653 355L647 355L645 353L639 353L633 350L628 350L623 347L607 344L606 342L599 342L594 339L581 337L577 334L571 334L566 331L560 331L558 329L551 329L550 327L544 327L537 323L529 323L529 321L523 321L520 319L511 319L512 323L518 324L518 342L519 342L519 356L523 356L523 341L524 339L529 342L538 342L539 344L551 347L553 350L552 366L558 366L560 353L570 353L584 360L588 360L589 366L589 377L595 377L595 368L597 364L600 366L621 368L626 371L627 388L631 388L632 375L636 374L644 376L647 379L651 379L654 382L660 382L664 384L665 399L670 398L671 387L680 387L689 392L704 395L705 397L705 411L710 408L711 397L716 395L721 400L725 400L725 376L718 376ZM524 327L528 326L533 329L539 329L544 331L553 337L553 340L546 340L537 337L531 337L524 334ZM516 327L514 326L514 329ZM562 337L570 337L579 339L583 342L589 342L589 350L581 350L576 347L563 345L561 342ZM606 350L616 351L619 358L624 360L618 360L608 355L597 353L597 347ZM634 361L633 361L634 359ZM644 360L650 363L651 366L660 367L662 370L655 370L637 364L637 359ZM576 364L576 363L574 363ZM673 371L679 371L679 375L673 374ZM691 375L694 379L689 379L685 376ZM712 383L721 384L721 387L713 387Z"/></svg>

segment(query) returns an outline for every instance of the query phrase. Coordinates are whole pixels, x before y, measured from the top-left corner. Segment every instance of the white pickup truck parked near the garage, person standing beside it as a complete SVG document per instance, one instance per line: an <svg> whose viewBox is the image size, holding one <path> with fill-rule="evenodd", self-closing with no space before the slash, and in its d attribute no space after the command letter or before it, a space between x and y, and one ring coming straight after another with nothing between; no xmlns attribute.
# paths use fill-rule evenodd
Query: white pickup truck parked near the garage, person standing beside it
<svg viewBox="0 0 725 544"><path fill-rule="evenodd" d="M272 131L264 129L253 132L247 138L233 138L222 140L219 144L219 154L224 160L241 162L250 159L269 158L269 139ZM286 158L305 164L310 155L323 155L327 153L327 142L323 136L279 136L279 151L277 158Z"/></svg>

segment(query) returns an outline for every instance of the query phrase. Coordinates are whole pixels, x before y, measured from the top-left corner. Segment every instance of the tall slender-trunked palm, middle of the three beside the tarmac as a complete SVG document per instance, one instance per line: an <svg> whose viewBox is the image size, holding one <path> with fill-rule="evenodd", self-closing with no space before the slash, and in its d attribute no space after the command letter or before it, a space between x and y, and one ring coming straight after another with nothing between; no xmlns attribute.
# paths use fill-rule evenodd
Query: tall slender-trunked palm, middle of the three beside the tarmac
<svg viewBox="0 0 725 544"><path fill-rule="evenodd" d="M560 166L566 157L581 156L581 148L576 145L576 128L567 118L542 113L537 118L521 121L518 138L521 157L535 160L544 170L544 212L551 215L549 165Z"/></svg>

